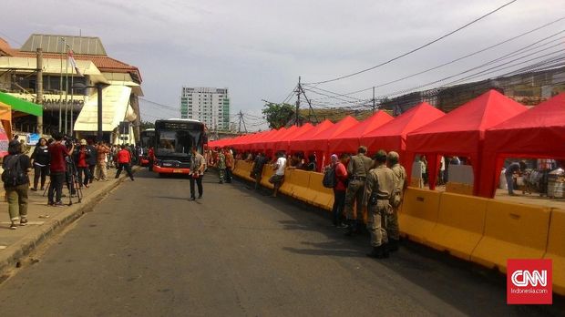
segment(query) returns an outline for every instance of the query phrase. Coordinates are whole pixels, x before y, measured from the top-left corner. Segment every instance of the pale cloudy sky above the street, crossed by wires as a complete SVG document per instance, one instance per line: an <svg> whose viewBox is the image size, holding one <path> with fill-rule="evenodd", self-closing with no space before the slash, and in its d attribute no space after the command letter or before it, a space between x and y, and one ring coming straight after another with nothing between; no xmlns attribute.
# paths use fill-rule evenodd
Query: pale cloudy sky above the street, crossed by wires
<svg viewBox="0 0 565 317"><path fill-rule="evenodd" d="M20 47L34 33L98 36L108 56L138 66L141 118L180 117L180 89L228 87L234 115L264 129L264 100L287 98L302 77L315 83L400 56L464 26L509 0L3 0L0 36ZM565 16L563 0L518 0L414 54L358 76L304 85L315 107L336 107L324 90L348 93L379 86L492 46ZM565 30L565 19L503 46L420 76L375 88L376 97L449 77ZM565 34L560 34L564 36ZM564 49L564 40L554 49ZM549 41L549 40L548 40ZM544 50L544 53L553 52ZM521 61L524 61L523 59ZM506 70L508 71L508 69ZM500 70L502 72L502 70ZM485 74L494 77L497 73ZM443 82L440 84L444 84ZM324 90L320 90L324 89ZM340 97L372 97L371 89ZM307 107L304 103L301 107Z"/></svg>

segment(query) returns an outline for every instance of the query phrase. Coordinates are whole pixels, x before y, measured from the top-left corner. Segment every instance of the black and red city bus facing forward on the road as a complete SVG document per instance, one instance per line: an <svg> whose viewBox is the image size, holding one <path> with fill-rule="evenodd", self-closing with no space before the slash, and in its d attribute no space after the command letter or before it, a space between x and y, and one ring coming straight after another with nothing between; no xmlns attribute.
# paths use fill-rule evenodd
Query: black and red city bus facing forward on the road
<svg viewBox="0 0 565 317"><path fill-rule="evenodd" d="M172 118L155 121L153 171L162 174L190 174L191 148L202 153L208 143L206 127L198 120Z"/></svg>

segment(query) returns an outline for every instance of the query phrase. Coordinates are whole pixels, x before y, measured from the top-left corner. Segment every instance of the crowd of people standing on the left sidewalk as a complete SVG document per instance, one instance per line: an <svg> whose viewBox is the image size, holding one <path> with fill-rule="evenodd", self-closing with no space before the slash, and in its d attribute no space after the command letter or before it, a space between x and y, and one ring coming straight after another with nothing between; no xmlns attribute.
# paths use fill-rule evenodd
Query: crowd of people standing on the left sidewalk
<svg viewBox="0 0 565 317"><path fill-rule="evenodd" d="M10 229L27 224L28 173L34 171L32 191L47 193L47 205L65 206L62 199L67 196L63 189L67 185L69 199L81 197L93 181L108 181L108 169L116 168L118 179L122 169L134 180L131 164L139 159L138 148L128 145L109 145L94 139L66 138L54 133L52 138L40 138L31 156L27 156L24 145L16 138L8 144L4 157L2 180L8 202ZM47 176L49 182L46 184ZM19 222L19 223L18 223Z"/></svg>

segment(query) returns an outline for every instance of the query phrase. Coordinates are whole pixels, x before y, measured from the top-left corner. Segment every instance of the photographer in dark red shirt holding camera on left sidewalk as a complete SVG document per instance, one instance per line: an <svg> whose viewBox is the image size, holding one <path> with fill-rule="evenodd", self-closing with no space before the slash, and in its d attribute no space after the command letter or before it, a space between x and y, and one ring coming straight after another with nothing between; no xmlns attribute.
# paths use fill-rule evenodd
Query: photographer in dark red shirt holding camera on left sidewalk
<svg viewBox="0 0 565 317"><path fill-rule="evenodd" d="M60 132L54 133L53 138L55 138L55 142L49 145L51 183L49 184L49 192L47 194L47 204L49 206L63 206L61 197L63 195L65 173L67 172L65 158L72 155L75 145L68 141L66 141L66 144L63 144L63 135ZM56 196L55 199L54 195Z"/></svg>

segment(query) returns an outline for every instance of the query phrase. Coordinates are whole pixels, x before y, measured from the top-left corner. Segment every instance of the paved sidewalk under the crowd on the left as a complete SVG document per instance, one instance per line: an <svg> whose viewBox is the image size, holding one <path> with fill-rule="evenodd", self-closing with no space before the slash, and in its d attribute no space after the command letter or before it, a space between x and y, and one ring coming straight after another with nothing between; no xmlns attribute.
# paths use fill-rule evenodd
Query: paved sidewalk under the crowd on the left
<svg viewBox="0 0 565 317"><path fill-rule="evenodd" d="M135 172L140 168L134 166ZM2 199L0 202L0 276L5 272L19 266L18 261L33 251L36 246L48 239L51 235L62 230L69 223L77 220L87 210L96 206L112 189L118 187L122 181L129 182L126 173L122 172L119 179L114 179L116 169L108 169L108 181L94 181L89 189L83 188L83 198L80 203L77 198L73 198L73 203L68 206L68 190L64 187L63 193L67 197L63 198L65 207L47 206L47 197L43 196L42 190L28 191L29 205L27 209L26 226L18 226L16 230L10 230L10 217L8 215L8 205ZM33 173L30 175L33 182ZM48 182L47 177L47 182ZM47 185L47 184L46 184Z"/></svg>

